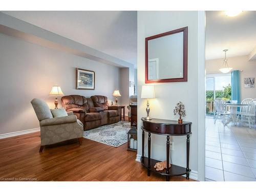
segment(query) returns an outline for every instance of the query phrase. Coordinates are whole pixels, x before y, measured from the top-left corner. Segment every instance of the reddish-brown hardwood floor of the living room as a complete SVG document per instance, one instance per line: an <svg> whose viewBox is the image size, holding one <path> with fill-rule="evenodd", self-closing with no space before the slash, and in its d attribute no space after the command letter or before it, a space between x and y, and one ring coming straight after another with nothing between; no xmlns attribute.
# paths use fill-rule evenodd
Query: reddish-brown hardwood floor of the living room
<svg viewBox="0 0 256 192"><path fill-rule="evenodd" d="M136 152L126 151L126 143L115 148L83 138L81 146L76 139L46 146L39 153L40 132L36 132L1 139L0 146L2 181L165 181L154 173L147 177L146 169L135 161ZM180 176L170 181L188 180Z"/></svg>

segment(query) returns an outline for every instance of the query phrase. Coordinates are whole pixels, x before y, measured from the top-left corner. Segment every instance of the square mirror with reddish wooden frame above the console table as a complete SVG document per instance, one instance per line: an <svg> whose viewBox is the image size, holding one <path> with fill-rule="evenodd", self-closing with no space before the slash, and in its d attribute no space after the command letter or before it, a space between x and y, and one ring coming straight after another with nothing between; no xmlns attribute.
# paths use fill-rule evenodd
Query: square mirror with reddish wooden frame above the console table
<svg viewBox="0 0 256 192"><path fill-rule="evenodd" d="M145 38L145 83L187 81L187 27Z"/></svg>

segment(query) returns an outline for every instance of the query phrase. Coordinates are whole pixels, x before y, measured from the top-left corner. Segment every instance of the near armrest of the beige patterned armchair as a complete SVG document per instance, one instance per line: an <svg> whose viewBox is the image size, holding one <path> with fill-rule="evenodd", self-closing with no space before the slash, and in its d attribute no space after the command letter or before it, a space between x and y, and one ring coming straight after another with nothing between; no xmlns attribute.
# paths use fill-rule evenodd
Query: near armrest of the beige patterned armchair
<svg viewBox="0 0 256 192"><path fill-rule="evenodd" d="M69 115L69 116L65 116L65 117L56 117L56 118L41 120L40 126L51 126L51 125L74 123L74 122L76 122L76 116Z"/></svg>

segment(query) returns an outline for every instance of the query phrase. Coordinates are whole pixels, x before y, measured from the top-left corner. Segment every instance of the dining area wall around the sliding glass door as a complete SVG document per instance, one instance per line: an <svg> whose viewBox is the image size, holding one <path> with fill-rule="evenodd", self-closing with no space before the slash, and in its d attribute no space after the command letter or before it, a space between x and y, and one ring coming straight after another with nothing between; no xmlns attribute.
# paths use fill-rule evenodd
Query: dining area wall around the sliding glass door
<svg viewBox="0 0 256 192"><path fill-rule="evenodd" d="M217 74L222 68L223 59L206 60L206 74ZM238 56L228 58L228 66L240 72L241 101L245 98L256 98L256 86L254 88L244 88L244 78L254 77L256 80L256 60L248 61L248 56Z"/></svg>

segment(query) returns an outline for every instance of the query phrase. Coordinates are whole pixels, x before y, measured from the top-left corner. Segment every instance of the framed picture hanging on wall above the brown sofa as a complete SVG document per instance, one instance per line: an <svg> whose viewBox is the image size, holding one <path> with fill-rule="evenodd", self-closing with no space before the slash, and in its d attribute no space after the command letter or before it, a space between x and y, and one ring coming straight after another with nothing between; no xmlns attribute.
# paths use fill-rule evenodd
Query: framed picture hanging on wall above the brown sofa
<svg viewBox="0 0 256 192"><path fill-rule="evenodd" d="M76 68L76 89L94 90L95 72Z"/></svg>

